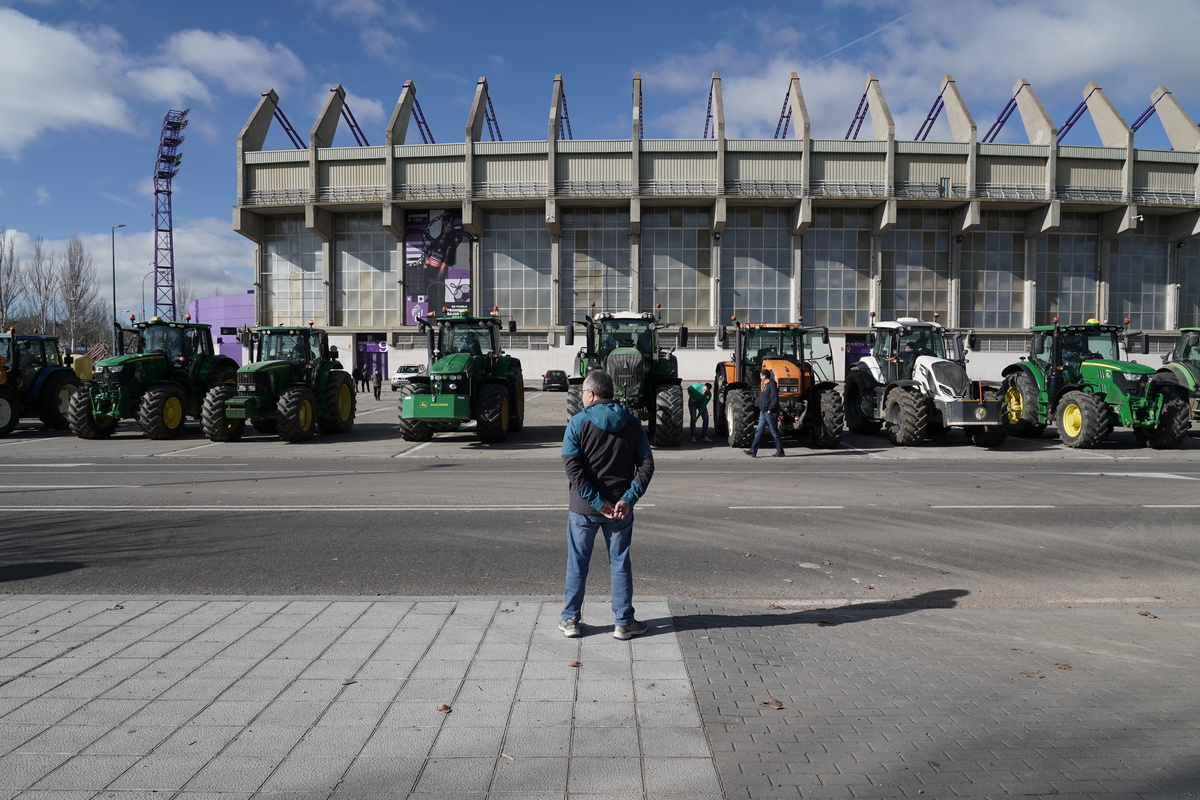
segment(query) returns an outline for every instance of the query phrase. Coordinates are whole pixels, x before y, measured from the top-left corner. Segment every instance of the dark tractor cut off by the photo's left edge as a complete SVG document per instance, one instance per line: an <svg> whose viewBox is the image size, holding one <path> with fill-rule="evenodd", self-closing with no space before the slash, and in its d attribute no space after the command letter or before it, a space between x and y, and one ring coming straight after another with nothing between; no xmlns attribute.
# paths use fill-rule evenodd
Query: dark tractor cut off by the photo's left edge
<svg viewBox="0 0 1200 800"><path fill-rule="evenodd" d="M0 437L23 416L37 417L52 431L66 429L71 397L83 381L64 357L58 336L0 333Z"/></svg>

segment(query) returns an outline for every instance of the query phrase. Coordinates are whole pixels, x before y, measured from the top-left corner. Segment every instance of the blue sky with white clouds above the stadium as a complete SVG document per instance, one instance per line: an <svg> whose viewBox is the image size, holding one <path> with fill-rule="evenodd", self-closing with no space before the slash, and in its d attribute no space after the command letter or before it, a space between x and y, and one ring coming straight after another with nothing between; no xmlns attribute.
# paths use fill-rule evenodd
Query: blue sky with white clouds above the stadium
<svg viewBox="0 0 1200 800"><path fill-rule="evenodd" d="M251 242L230 227L235 140L268 89L307 139L341 84L379 145L412 80L448 143L463 140L485 77L514 142L545 139L562 74L574 138L628 139L641 73L643 136L700 138L718 72L726 136L770 138L796 72L812 136L841 139L875 73L896 137L910 139L949 74L982 137L1020 78L1060 126L1088 82L1127 122L1158 86L1200 119L1196 30L1196 0L0 0L0 228L25 257L37 236L60 252L78 236L102 294L115 261L119 313L142 317L154 305L151 174L170 109L190 109L172 194L175 270L209 296L252 284ZM415 125L408 137L420 142ZM1024 137L1014 114L997 142ZM929 140L948 139L942 114ZM1170 146L1157 119L1135 143ZM354 145L344 124L334 144ZM1099 144L1091 118L1063 144ZM290 149L277 124L266 149Z"/></svg>

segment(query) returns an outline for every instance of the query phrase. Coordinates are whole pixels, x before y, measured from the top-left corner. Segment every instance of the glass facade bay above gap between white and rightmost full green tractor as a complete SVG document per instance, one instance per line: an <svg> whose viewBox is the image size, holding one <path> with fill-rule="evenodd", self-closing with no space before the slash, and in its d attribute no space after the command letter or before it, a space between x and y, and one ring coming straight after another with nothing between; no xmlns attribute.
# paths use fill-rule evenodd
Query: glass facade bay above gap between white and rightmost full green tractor
<svg viewBox="0 0 1200 800"><path fill-rule="evenodd" d="M962 236L960 324L1025 327L1024 213L991 211Z"/></svg>

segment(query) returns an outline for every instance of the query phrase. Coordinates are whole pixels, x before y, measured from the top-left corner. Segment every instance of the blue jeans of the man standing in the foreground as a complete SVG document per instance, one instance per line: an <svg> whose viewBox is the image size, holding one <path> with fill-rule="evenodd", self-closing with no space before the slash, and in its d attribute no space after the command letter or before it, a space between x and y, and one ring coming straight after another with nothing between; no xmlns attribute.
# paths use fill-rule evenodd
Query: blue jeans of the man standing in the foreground
<svg viewBox="0 0 1200 800"><path fill-rule="evenodd" d="M612 616L617 625L634 621L634 563L629 547L634 539L634 515L608 519L602 515L574 511L566 517L566 591L563 593L563 619L580 620L583 591L588 583L588 563L596 531L604 531L612 573Z"/></svg>

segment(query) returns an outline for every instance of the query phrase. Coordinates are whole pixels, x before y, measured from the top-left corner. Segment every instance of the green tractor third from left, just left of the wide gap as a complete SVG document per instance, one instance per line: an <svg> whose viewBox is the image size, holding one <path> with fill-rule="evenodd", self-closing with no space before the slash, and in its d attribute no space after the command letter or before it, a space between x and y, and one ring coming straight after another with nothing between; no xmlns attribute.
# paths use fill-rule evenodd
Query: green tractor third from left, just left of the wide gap
<svg viewBox="0 0 1200 800"><path fill-rule="evenodd" d="M337 360L337 348L317 327L256 327L247 342L253 362L238 369L236 385L209 389L200 409L204 435L238 441L246 421L284 441L306 441L354 427L354 380Z"/></svg>

